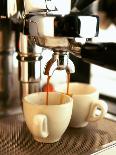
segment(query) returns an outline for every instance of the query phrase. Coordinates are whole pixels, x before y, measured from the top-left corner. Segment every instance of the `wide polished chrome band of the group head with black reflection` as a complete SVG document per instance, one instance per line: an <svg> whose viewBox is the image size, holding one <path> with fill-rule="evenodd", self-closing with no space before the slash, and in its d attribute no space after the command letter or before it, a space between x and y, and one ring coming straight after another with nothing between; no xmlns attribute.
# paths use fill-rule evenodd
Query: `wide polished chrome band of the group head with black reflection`
<svg viewBox="0 0 116 155"><path fill-rule="evenodd" d="M93 38L98 35L98 21L99 18L95 15L84 16L72 13L58 16L57 14L38 13L30 17L25 16L24 28L28 28L29 35L40 38Z"/></svg>

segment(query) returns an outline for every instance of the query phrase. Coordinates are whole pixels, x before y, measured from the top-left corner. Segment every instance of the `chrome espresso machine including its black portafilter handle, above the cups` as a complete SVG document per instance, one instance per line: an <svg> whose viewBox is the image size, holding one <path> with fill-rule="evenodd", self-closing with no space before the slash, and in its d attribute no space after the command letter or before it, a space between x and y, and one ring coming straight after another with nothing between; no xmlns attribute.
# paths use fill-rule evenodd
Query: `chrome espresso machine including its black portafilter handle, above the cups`
<svg viewBox="0 0 116 155"><path fill-rule="evenodd" d="M51 76L55 69L68 69L70 73L74 72L74 65L69 61L69 53L89 63L116 69L116 45L92 44L88 41L98 35L99 18L89 14L82 15L81 10L93 1L63 0L62 5L59 4L59 0L2 0L0 2L0 36L8 35L0 42L0 52L2 57L7 59L8 57L4 55L9 56L10 51L17 51L21 99L27 94L41 91L44 49L53 51L52 58L45 66L46 75ZM10 30L7 24L5 29L4 21L10 21L12 25ZM82 44L76 38L77 40L85 38L86 42ZM7 49L4 49L6 47ZM12 60L1 62L7 65L6 71L10 70L8 62L12 63ZM8 72L3 76L7 84Z"/></svg>

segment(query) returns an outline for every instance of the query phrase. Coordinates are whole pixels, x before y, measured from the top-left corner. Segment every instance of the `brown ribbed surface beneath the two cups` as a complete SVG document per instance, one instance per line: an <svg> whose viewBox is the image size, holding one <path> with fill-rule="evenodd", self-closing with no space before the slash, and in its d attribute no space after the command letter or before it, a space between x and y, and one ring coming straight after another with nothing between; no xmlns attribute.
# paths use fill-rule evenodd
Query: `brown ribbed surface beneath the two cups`
<svg viewBox="0 0 116 155"><path fill-rule="evenodd" d="M85 155L113 140L116 122L107 119L83 129L68 128L60 141L52 144L36 142L22 114L0 119L0 155Z"/></svg>

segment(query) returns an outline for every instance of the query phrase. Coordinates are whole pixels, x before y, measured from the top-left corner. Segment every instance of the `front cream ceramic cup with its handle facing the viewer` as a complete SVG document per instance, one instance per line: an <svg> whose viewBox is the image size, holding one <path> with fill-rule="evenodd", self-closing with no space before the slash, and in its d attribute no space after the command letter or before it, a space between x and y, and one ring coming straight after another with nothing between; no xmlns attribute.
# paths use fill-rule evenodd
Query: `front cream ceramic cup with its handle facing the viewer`
<svg viewBox="0 0 116 155"><path fill-rule="evenodd" d="M65 94L46 92L27 95L23 98L24 118L34 139L43 143L57 142L69 126L73 99Z"/></svg>

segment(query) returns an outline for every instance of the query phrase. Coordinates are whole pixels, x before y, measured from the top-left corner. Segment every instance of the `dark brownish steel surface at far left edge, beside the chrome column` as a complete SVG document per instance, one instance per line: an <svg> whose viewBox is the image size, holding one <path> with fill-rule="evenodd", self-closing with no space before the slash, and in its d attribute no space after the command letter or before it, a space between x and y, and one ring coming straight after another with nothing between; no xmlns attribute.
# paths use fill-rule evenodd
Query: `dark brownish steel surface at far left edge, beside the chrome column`
<svg viewBox="0 0 116 155"><path fill-rule="evenodd" d="M0 19L0 113L12 106L19 93L17 72L14 62L16 35L9 19Z"/></svg>

